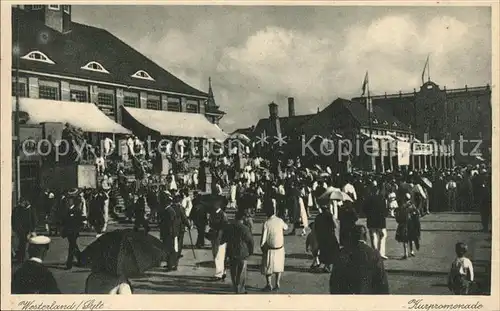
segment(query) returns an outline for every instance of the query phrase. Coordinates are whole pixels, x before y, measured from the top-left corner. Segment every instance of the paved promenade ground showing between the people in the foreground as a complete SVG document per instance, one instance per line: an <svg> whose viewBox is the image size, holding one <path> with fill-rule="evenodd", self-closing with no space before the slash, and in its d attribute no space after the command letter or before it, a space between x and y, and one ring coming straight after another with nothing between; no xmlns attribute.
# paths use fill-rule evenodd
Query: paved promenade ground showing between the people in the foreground
<svg viewBox="0 0 500 311"><path fill-rule="evenodd" d="M250 258L248 272L249 294L260 294L264 287L264 277L259 272L260 249L258 247L262 229L262 216L258 216L254 226L256 254ZM360 222L364 222L361 220ZM131 225L115 224L111 228L124 228ZM472 259L481 284L481 290L488 290L489 281L486 278L490 269L491 240L490 235L480 231L480 218L477 214L440 213L426 216L422 219L422 246L415 258L400 260L402 247L395 241L396 223L388 220L386 269L389 274L390 291L394 294L449 294L446 287L446 275L453 260L454 245L464 241L469 245L469 258ZM153 235L158 236L154 230ZM192 231L196 239L196 231ZM326 294L328 293L328 278L325 273L309 271L311 256L305 253L305 237L286 237L286 262L280 293L283 294ZM79 239L80 248L84 248L94 240L90 233L83 233ZM132 280L136 293L206 293L230 294L230 278L225 283L211 282L213 275L212 255L208 247L195 250L196 259L190 249L189 235L185 236L186 248L184 258L180 261L178 271L165 273L155 269L143 278ZM67 241L54 237L46 263L51 267L59 287L63 293L83 293L88 269L73 268L64 270L67 254Z"/></svg>

